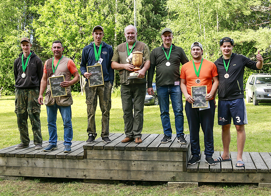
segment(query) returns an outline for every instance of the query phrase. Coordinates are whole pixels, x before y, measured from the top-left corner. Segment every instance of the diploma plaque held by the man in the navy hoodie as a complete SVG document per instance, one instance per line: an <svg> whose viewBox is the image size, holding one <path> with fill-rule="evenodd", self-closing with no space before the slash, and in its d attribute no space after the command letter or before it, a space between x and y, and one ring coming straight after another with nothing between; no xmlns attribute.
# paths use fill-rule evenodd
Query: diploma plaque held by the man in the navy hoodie
<svg viewBox="0 0 271 196"><path fill-rule="evenodd" d="M87 66L88 73L92 75L89 77L89 87L104 85L103 69L101 64Z"/></svg>

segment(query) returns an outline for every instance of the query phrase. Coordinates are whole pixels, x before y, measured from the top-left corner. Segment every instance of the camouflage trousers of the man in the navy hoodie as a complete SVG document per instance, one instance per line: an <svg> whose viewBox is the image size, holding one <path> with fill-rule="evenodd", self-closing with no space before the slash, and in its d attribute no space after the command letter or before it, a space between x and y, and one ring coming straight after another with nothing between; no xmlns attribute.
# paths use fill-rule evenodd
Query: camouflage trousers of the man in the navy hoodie
<svg viewBox="0 0 271 196"><path fill-rule="evenodd" d="M105 82L105 85L89 87L87 82L85 85L86 104L88 112L88 128L87 132L97 136L95 125L95 111L98 102L102 111L102 132L101 137L109 136L109 111L111 109L111 90L110 82Z"/></svg>

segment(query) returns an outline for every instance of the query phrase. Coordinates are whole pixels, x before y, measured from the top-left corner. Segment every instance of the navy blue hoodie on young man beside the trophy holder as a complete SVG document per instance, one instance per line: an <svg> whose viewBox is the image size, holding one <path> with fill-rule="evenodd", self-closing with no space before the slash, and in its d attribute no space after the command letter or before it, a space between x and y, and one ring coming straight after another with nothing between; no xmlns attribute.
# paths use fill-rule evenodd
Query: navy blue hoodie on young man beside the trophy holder
<svg viewBox="0 0 271 196"><path fill-rule="evenodd" d="M82 75L84 75L84 73L87 72L87 66L92 66L96 63L93 43L94 42L91 42L83 49L82 61L80 64L80 71ZM97 51L98 49L99 47L96 46ZM101 58L103 59L102 69L104 81L105 82L110 81L111 84L113 84L114 81L114 70L111 68L112 57L113 57L112 47L108 44L105 44L105 42L102 42Z"/></svg>

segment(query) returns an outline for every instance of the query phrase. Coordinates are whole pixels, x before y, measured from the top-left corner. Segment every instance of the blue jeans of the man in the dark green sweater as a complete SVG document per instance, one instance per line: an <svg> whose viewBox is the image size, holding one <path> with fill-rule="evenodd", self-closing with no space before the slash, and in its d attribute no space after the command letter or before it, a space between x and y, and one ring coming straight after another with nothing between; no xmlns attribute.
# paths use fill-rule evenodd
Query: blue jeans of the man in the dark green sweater
<svg viewBox="0 0 271 196"><path fill-rule="evenodd" d="M169 97L175 116L175 128L177 137L184 135L183 133L183 106L182 91L180 85L162 85L156 86L161 112L161 121L164 134L171 137L172 129L169 118Z"/></svg>

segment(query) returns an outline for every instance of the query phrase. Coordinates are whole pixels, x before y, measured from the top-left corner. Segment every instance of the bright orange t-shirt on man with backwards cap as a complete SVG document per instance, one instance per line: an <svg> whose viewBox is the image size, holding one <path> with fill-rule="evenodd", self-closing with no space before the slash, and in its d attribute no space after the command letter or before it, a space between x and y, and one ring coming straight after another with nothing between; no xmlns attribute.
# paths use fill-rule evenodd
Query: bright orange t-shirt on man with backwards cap
<svg viewBox="0 0 271 196"><path fill-rule="evenodd" d="M200 64L201 64L200 62L195 63L197 70L198 70ZM212 78L217 75L218 74L217 74L216 65L211 61L203 59L201 70L200 70L199 77L198 77L201 80L201 82L199 84L196 83L197 75L195 74L192 60L187 62L186 64L182 65L180 78L186 80L187 92L190 96L192 96L191 95L191 86L207 85L207 94L210 93L210 91L212 89Z"/></svg>

